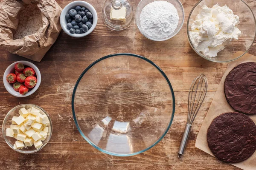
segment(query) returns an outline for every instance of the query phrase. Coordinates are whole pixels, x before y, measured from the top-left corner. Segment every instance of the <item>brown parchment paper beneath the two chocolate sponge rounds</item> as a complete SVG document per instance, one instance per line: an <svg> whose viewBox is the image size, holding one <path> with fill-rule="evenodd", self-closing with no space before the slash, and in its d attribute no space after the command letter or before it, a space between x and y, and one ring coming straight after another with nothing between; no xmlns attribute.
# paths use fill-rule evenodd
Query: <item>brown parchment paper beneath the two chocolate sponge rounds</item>
<svg viewBox="0 0 256 170"><path fill-rule="evenodd" d="M236 53L235 55L241 54L240 52ZM227 66L227 69L221 79L221 82L218 86L218 89L215 93L215 96L213 97L212 104L210 105L210 108L208 110L208 113L204 119L203 125L201 126L201 129L198 133L195 147L198 147L199 149L203 150L206 153L209 153L210 155L214 156L211 152L211 150L208 147L207 143L207 130L209 125L211 124L212 120L220 115L221 113L235 111L227 102L224 94L224 82L225 78L227 77L227 74L236 66L243 62L256 62L256 56L253 56L251 54L245 54L243 57L237 59L236 61L230 62ZM250 118L256 123L256 115L248 115ZM253 155L242 162L233 164L236 167L239 167L244 170L256 170L256 152L253 153Z"/></svg>

